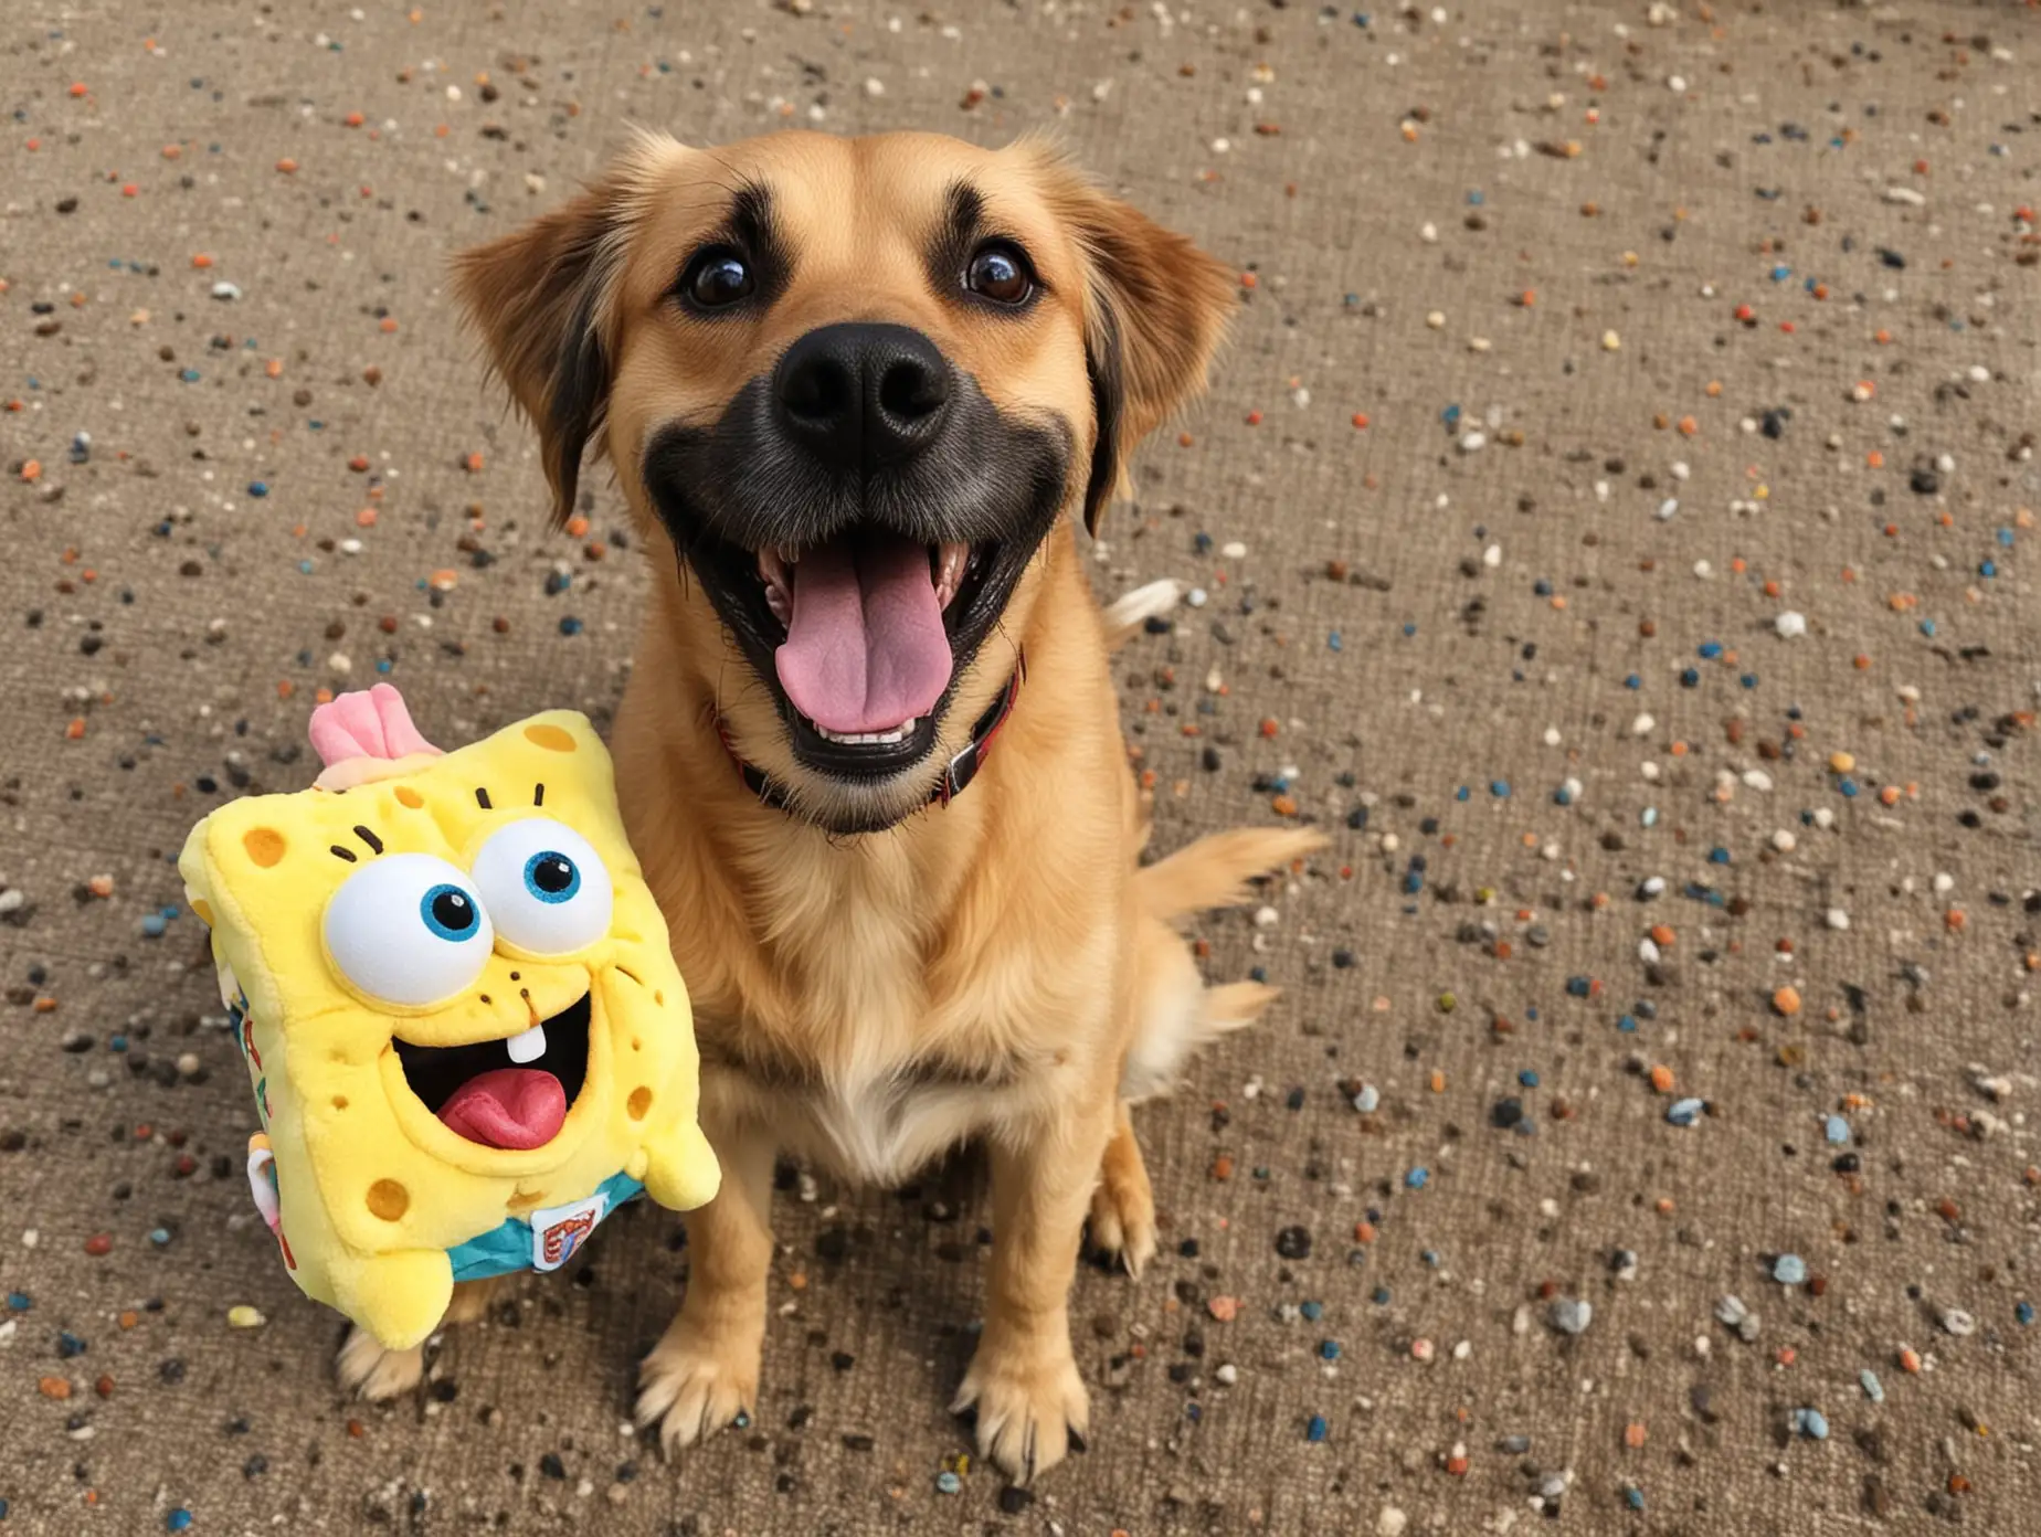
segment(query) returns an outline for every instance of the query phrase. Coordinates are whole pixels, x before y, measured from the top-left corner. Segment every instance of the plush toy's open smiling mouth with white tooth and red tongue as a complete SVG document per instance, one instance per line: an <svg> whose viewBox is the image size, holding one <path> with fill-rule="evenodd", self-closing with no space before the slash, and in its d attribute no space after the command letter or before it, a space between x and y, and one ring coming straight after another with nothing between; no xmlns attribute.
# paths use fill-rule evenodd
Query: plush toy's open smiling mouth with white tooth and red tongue
<svg viewBox="0 0 2041 1537"><path fill-rule="evenodd" d="M484 1147L543 1147L588 1080L592 992L506 1039L471 1045L396 1041L404 1082L453 1133Z"/></svg>

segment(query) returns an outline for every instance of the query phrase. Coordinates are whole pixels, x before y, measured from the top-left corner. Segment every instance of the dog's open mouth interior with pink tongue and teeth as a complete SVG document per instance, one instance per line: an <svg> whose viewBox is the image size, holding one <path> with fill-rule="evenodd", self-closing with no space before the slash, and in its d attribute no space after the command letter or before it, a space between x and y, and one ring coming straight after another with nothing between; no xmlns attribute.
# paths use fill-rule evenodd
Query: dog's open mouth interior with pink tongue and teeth
<svg viewBox="0 0 2041 1537"><path fill-rule="evenodd" d="M690 561L771 651L796 753L857 776L929 751L961 653L1010 588L994 580L1000 553L1000 541L920 543L861 523L759 551L710 535Z"/></svg>

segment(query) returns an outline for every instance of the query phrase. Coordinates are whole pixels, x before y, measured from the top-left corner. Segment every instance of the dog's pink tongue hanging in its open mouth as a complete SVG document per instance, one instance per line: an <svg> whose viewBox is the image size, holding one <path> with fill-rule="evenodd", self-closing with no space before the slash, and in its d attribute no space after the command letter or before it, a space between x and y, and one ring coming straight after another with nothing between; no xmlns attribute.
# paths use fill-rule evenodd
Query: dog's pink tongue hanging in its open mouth
<svg viewBox="0 0 2041 1537"><path fill-rule="evenodd" d="M794 708L829 731L929 714L949 686L949 637L927 545L839 539L802 555L776 661Z"/></svg>

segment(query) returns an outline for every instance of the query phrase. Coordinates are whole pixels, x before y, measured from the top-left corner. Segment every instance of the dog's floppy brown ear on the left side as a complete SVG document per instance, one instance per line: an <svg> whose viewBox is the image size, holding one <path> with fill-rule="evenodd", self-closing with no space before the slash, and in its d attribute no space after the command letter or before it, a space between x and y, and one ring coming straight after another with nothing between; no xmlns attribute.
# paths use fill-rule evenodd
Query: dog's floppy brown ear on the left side
<svg viewBox="0 0 2041 1537"><path fill-rule="evenodd" d="M610 284L623 249L614 180L453 259L453 288L490 363L539 429L553 520L574 514L582 451L610 394Z"/></svg>

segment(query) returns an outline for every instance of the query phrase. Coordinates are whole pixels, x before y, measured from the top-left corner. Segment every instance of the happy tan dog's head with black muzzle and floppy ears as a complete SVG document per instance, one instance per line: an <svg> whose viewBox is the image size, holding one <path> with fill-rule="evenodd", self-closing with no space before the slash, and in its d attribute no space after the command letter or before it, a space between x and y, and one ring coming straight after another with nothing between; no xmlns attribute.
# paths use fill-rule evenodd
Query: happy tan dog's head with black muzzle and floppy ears
<svg viewBox="0 0 2041 1537"><path fill-rule="evenodd" d="M1235 302L1047 147L939 135L643 137L457 286L557 516L596 441L671 543L676 688L837 831L927 802L1014 667L1049 531L1096 529Z"/></svg>

